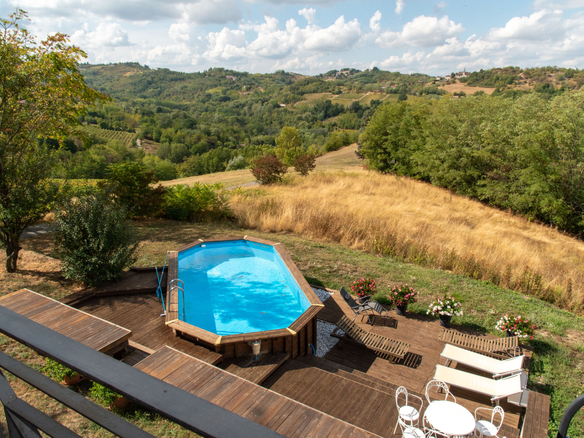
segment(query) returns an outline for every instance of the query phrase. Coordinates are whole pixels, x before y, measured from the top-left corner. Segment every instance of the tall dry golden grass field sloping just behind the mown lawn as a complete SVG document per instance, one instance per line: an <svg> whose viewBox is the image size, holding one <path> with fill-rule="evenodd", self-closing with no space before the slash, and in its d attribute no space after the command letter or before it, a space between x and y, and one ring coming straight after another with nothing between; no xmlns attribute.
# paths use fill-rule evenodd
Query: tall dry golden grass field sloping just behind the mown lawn
<svg viewBox="0 0 584 438"><path fill-rule="evenodd" d="M338 157L350 162L349 149ZM323 171L332 161L326 155L320 160ZM581 310L582 241L417 180L335 167L282 185L238 190L232 210L245 228L383 253Z"/></svg>

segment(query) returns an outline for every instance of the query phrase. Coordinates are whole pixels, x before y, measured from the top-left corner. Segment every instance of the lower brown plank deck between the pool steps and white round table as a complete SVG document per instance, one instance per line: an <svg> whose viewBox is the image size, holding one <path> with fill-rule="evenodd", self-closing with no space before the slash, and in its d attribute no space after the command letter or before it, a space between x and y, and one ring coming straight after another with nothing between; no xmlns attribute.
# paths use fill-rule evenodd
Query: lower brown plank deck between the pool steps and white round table
<svg viewBox="0 0 584 438"><path fill-rule="evenodd" d="M397 434L393 433L398 415L395 390L399 384L371 379L367 374L353 374L313 357L298 356L288 360L264 385L384 438L401 436L399 429ZM427 406L422 392L410 392L422 397ZM410 403L423 411L418 400L413 400ZM503 425L501 436L519 438L519 429Z"/></svg>

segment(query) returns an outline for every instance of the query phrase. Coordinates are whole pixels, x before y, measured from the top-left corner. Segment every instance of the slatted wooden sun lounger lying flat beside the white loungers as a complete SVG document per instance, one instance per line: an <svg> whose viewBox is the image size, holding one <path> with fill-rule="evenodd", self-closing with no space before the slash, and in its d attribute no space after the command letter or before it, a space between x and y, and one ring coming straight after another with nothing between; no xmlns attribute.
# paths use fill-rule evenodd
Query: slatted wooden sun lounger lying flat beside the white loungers
<svg viewBox="0 0 584 438"><path fill-rule="evenodd" d="M455 345L471 352L488 354L493 357L507 359L521 354L519 336L511 338L485 339L479 336L467 335L454 330L443 329L438 335L438 339L447 344Z"/></svg>

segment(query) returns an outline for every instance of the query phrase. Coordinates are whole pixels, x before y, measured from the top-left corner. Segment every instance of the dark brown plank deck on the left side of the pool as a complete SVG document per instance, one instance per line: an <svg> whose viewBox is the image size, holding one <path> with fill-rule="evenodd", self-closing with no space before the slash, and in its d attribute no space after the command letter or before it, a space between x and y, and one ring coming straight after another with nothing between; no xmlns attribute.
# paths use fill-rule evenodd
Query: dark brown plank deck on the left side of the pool
<svg viewBox="0 0 584 438"><path fill-rule="evenodd" d="M168 345L213 365L223 360L222 354L175 336L160 316L162 303L155 294L95 297L79 305L79 309L124 325L132 331L134 342L152 350Z"/></svg>

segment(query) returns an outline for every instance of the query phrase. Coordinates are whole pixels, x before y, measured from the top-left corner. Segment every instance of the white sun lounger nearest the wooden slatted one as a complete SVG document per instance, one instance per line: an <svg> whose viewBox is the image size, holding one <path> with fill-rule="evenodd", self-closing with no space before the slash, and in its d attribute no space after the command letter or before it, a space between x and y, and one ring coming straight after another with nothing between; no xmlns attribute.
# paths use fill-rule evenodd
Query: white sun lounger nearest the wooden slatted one
<svg viewBox="0 0 584 438"><path fill-rule="evenodd" d="M464 348L455 347L450 344L444 346L444 350L442 350L440 356L446 357L445 366L448 365L449 361L454 360L455 362L476 368L477 370L485 371L485 373L490 373L493 377L520 373L523 367L523 358L525 357L522 355L505 360L493 359L484 354L471 352L470 350L465 350Z"/></svg>

